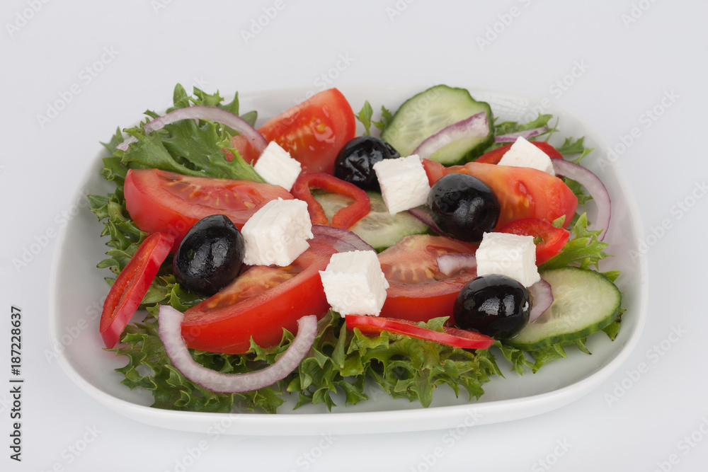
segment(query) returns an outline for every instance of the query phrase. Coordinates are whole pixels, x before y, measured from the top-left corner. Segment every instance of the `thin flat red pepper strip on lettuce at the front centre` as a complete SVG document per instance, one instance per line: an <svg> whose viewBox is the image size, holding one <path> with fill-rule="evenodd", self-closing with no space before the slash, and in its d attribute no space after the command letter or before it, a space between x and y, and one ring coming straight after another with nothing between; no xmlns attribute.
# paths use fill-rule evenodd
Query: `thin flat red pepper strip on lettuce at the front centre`
<svg viewBox="0 0 708 472"><path fill-rule="evenodd" d="M377 335L382 331L394 334L404 334L411 338L418 338L426 341L433 341L453 347L464 347L466 349L489 349L494 343L492 338L476 333L475 331L461 330L444 326L445 331L430 330L418 326L417 323L408 320L398 320L395 318L382 318L380 316L359 316L347 315L347 328L354 330L358 328L362 334Z"/></svg>

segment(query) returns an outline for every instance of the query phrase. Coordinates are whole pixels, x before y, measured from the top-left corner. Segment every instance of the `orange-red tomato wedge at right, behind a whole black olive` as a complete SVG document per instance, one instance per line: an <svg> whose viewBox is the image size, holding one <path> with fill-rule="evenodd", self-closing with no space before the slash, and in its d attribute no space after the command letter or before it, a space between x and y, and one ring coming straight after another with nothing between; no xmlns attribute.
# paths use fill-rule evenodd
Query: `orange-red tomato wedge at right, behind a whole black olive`
<svg viewBox="0 0 708 472"><path fill-rule="evenodd" d="M533 168L479 162L445 167L429 159L423 159L423 167L430 185L453 172L467 173L489 185L501 205L496 228L520 218L552 222L562 216L566 217L567 225L578 207L578 198L563 180Z"/></svg>

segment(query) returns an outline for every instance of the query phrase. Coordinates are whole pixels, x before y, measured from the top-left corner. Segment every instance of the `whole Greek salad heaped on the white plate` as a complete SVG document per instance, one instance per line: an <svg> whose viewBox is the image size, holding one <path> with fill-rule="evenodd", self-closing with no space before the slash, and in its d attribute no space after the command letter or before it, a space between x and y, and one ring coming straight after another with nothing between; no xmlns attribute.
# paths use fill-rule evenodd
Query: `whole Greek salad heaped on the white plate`
<svg viewBox="0 0 708 472"><path fill-rule="evenodd" d="M501 122L445 85L377 113L331 88L259 127L239 108L177 85L104 144L115 191L89 195L112 275L97 335L155 408L472 401L619 332L610 197L582 137L549 144L552 115Z"/></svg>

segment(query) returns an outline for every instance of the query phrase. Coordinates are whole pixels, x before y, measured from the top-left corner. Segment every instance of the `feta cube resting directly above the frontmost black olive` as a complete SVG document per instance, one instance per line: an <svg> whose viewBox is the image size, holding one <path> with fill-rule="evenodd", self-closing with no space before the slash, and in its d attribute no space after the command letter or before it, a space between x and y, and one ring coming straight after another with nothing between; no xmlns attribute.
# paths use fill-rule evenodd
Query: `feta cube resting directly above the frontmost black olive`
<svg viewBox="0 0 708 472"><path fill-rule="evenodd" d="M476 252L477 275L500 274L530 287L539 280L533 236L485 233Z"/></svg>

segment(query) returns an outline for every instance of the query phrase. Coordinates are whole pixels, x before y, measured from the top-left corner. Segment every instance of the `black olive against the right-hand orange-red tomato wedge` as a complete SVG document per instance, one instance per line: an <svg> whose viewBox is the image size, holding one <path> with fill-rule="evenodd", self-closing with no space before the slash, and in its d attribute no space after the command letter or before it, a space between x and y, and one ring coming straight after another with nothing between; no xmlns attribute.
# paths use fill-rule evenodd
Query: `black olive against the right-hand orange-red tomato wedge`
<svg viewBox="0 0 708 472"><path fill-rule="evenodd" d="M481 241L499 219L501 205L493 190L472 175L451 173L433 184L428 193L433 221L447 236L460 241Z"/></svg>

